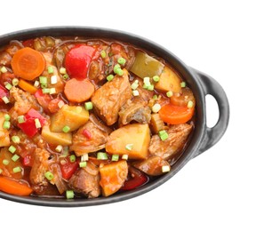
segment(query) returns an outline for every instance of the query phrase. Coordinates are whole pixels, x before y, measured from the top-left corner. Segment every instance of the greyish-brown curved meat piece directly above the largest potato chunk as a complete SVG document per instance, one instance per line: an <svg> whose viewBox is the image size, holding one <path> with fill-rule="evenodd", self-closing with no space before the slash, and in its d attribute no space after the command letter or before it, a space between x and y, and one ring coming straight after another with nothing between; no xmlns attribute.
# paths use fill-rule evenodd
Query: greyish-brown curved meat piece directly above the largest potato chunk
<svg viewBox="0 0 256 231"><path fill-rule="evenodd" d="M119 112L119 123L125 125L131 121L149 123L151 110L144 100L128 100Z"/></svg>

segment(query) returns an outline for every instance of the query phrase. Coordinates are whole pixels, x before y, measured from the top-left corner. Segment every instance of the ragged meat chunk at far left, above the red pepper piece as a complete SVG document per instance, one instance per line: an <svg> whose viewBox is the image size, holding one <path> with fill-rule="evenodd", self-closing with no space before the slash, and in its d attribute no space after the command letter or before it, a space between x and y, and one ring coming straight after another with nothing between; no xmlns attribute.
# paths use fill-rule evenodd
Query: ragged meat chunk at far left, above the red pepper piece
<svg viewBox="0 0 256 231"><path fill-rule="evenodd" d="M14 118L26 114L30 108L38 109L36 98L29 92L24 92L19 88L12 87L10 96L11 102L14 103L14 107L11 110Z"/></svg>

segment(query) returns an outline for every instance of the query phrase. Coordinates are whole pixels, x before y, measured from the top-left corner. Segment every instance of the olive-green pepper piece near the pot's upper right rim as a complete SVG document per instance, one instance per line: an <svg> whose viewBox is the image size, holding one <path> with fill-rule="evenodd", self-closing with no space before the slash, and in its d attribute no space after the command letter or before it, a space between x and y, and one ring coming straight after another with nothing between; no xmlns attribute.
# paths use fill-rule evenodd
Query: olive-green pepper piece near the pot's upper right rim
<svg viewBox="0 0 256 231"><path fill-rule="evenodd" d="M137 52L131 71L140 78L160 76L164 64L144 52Z"/></svg>

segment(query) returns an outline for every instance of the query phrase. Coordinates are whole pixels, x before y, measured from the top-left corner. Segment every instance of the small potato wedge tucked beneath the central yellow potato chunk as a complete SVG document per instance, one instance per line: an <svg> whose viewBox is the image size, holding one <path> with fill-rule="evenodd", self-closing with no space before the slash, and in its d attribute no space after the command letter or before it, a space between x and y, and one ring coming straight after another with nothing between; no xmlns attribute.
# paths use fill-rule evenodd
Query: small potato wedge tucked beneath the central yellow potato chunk
<svg viewBox="0 0 256 231"><path fill-rule="evenodd" d="M45 125L42 129L42 137L44 140L53 145L63 145L68 146L72 144L72 133L64 133L64 132L53 132L50 131L48 125Z"/></svg>

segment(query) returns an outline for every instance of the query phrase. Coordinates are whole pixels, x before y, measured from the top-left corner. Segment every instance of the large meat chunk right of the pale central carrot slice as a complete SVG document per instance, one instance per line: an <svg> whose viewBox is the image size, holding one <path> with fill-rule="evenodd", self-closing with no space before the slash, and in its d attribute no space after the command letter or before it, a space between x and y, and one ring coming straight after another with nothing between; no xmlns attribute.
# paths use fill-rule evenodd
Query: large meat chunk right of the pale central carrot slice
<svg viewBox="0 0 256 231"><path fill-rule="evenodd" d="M93 107L100 118L108 125L116 123L118 112L127 100L132 99L128 72L115 76L112 81L100 87L92 96Z"/></svg>

